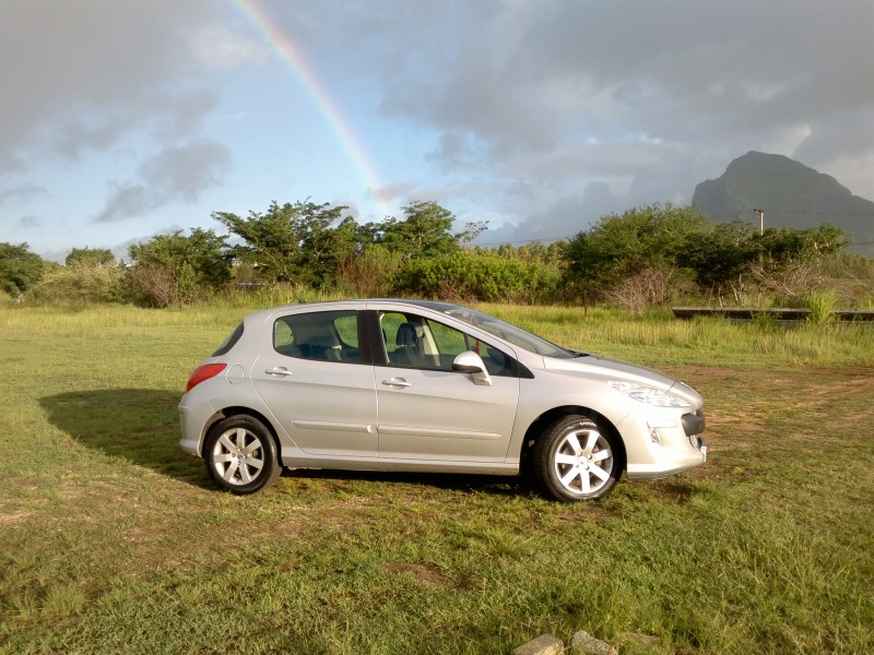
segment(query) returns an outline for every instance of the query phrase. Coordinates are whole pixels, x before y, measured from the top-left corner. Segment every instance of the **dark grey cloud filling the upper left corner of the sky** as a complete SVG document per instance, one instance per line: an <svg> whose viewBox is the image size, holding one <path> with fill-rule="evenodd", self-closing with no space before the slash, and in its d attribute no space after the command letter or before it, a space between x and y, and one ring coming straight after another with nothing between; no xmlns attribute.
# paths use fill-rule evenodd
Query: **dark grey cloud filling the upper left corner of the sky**
<svg viewBox="0 0 874 655"><path fill-rule="evenodd" d="M0 59L26 66L0 69L0 152L26 162L39 140L76 156L107 147L156 116L177 115L189 102L178 84L194 66L184 31L202 21L209 4L4 2Z"/></svg>

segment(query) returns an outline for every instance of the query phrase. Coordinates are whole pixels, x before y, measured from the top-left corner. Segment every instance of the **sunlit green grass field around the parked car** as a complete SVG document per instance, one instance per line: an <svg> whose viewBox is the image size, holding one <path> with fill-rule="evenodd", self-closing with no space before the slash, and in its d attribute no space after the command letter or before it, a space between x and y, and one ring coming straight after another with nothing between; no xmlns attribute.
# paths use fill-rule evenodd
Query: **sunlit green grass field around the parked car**
<svg viewBox="0 0 874 655"><path fill-rule="evenodd" d="M243 307L0 308L0 652L874 652L874 326L484 309L690 383L708 463L584 505L331 472L237 498L176 405Z"/></svg>

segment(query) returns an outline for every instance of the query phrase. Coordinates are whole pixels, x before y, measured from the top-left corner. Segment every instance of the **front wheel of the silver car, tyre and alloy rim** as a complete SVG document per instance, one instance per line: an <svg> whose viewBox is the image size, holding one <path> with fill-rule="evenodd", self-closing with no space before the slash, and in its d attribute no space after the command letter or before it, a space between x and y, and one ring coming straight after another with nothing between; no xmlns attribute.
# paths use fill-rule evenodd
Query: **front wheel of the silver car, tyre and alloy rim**
<svg viewBox="0 0 874 655"><path fill-rule="evenodd" d="M541 490L565 502L605 497L623 471L616 440L584 416L553 421L534 445L534 476Z"/></svg>

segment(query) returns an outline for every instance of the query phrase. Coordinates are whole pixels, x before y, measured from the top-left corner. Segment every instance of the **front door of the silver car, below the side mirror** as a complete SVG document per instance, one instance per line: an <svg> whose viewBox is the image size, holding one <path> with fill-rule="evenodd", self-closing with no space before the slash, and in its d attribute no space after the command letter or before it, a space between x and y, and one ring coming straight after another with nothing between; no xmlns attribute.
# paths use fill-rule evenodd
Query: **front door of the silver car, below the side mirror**
<svg viewBox="0 0 874 655"><path fill-rule="evenodd" d="M506 355L461 330L424 317L382 312L385 366L376 367L379 456L441 462L503 462L519 400ZM454 357L480 350L489 385L452 371Z"/></svg>

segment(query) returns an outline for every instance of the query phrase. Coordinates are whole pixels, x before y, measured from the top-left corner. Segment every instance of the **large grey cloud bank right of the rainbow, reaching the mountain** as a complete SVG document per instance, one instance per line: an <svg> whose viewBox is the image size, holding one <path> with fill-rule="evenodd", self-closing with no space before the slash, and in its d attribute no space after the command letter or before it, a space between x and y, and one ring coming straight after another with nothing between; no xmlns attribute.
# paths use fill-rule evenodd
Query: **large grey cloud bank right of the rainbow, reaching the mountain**
<svg viewBox="0 0 874 655"><path fill-rule="evenodd" d="M849 153L874 172L874 143L860 138L874 134L869 0L399 1L367 12L332 21L341 35L367 25L347 51L371 67L381 111L433 132L435 172L503 180L492 209L532 237L606 207L688 202L748 150L825 168L848 167Z"/></svg>

